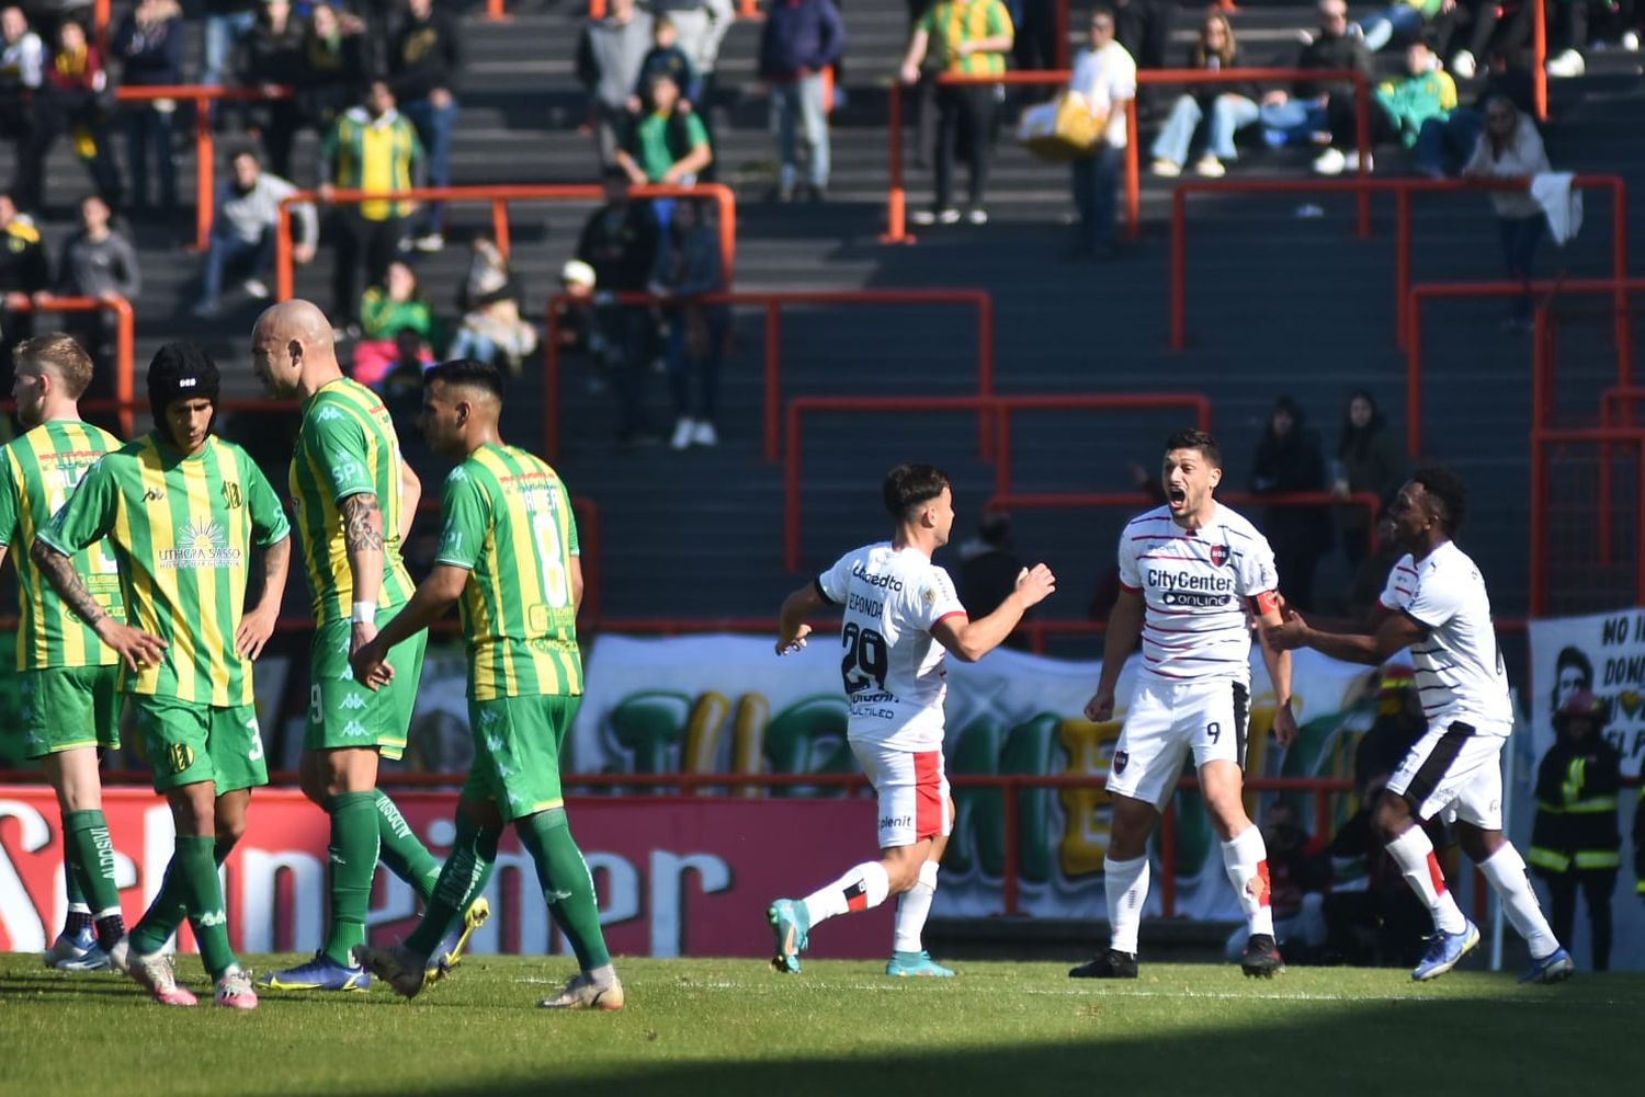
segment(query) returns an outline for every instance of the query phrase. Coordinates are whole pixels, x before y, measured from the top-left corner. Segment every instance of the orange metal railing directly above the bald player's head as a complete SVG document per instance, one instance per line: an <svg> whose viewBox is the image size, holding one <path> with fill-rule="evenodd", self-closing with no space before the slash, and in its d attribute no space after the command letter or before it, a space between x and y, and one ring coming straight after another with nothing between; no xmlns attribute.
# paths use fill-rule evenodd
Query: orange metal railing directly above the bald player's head
<svg viewBox="0 0 1645 1097"><path fill-rule="evenodd" d="M714 202L719 209L721 253L725 268L725 281L732 280L737 265L737 197L729 186L719 183L699 183L696 186L646 184L630 187L633 197L694 197ZM508 202L597 202L605 197L605 189L597 183L572 183L554 186L443 186L411 187L408 191L332 191L326 204L359 206L360 202L490 202L492 234L497 247L508 255ZM291 206L298 202L317 202L314 191L299 191L280 202L280 224L275 229L275 298L290 301L293 294L293 262L291 262Z"/></svg>

